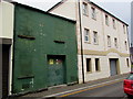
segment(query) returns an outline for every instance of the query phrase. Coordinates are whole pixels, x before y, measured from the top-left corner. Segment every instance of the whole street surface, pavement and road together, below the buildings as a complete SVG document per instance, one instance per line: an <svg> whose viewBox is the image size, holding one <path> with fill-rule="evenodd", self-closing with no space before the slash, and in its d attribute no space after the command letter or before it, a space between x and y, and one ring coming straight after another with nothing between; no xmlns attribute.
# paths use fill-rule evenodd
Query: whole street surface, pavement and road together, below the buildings
<svg viewBox="0 0 133 99"><path fill-rule="evenodd" d="M120 97L122 99L126 99L126 96L122 89L122 82L127 75L129 74L124 74L80 85L51 88L41 92L28 94L21 96L21 98L35 97L40 99L45 97Z"/></svg>

